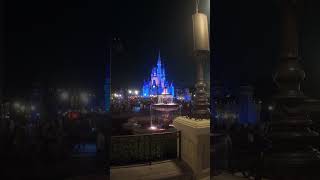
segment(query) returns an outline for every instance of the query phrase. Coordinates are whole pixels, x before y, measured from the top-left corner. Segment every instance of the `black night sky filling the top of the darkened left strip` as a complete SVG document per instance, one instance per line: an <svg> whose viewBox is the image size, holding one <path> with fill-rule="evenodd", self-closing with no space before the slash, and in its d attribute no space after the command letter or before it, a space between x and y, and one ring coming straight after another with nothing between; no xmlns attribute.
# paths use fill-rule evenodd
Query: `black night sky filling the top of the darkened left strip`
<svg viewBox="0 0 320 180"><path fill-rule="evenodd" d="M103 88L111 34L107 2L7 1L7 91L33 82Z"/></svg>

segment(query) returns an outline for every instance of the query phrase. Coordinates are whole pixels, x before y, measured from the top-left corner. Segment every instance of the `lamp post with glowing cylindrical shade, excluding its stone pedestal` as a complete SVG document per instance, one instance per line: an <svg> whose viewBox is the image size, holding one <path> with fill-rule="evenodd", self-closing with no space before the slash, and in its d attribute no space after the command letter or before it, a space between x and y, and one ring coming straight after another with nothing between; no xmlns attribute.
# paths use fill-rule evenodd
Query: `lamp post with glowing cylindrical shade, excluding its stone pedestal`
<svg viewBox="0 0 320 180"><path fill-rule="evenodd" d="M197 82L194 108L191 117L209 119L210 109L207 96L207 85L204 81L204 62L210 57L208 18L198 11L199 0L196 0L196 13L192 15L194 57L197 63Z"/></svg>

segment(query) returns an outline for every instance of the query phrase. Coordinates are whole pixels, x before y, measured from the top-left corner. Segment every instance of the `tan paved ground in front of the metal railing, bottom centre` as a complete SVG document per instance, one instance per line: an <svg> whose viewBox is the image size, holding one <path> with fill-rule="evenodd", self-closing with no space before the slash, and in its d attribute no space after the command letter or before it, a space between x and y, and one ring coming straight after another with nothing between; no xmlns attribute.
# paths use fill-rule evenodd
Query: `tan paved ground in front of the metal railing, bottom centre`
<svg viewBox="0 0 320 180"><path fill-rule="evenodd" d="M111 168L112 180L188 180L191 174L191 170L179 161Z"/></svg>

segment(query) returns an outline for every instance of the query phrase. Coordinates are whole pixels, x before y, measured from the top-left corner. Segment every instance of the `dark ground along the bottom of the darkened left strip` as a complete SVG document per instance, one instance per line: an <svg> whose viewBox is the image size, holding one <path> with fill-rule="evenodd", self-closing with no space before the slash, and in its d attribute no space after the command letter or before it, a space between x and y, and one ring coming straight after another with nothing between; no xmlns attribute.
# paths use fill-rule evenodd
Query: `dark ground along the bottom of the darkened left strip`
<svg viewBox="0 0 320 180"><path fill-rule="evenodd" d="M9 162L2 179L46 179L46 180L107 180L108 169L98 165L95 144L86 144L81 152L56 163L33 162L19 160ZM0 177L1 179L1 177Z"/></svg>

